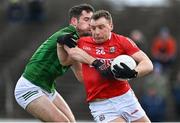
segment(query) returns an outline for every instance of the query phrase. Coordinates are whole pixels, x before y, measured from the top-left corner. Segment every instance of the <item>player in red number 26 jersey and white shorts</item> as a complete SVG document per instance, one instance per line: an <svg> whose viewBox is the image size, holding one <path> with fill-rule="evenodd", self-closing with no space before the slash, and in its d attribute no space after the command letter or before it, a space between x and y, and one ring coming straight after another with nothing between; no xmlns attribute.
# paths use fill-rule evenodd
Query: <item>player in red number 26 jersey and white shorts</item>
<svg viewBox="0 0 180 123"><path fill-rule="evenodd" d="M130 55L138 63L134 70L129 70L128 66L114 68L120 78L135 78L151 72L152 62L131 39L111 32L113 23L108 11L95 12L90 27L92 37L80 38L77 43L79 48L65 49L67 59L70 57L74 61L82 62L79 72L81 76L76 77L82 77L78 80L84 82L87 102L94 120L150 122L128 81L111 78L112 72L109 68L115 57L121 54Z"/></svg>

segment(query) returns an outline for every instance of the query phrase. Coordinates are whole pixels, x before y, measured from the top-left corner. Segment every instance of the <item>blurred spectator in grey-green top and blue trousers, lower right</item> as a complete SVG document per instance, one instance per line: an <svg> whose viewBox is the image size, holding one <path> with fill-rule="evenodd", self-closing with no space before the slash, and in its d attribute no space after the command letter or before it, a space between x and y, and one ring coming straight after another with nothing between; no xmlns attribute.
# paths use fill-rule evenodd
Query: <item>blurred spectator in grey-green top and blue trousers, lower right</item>
<svg viewBox="0 0 180 123"><path fill-rule="evenodd" d="M154 66L154 72L145 78L143 85L144 94L141 97L141 105L152 122L165 120L167 96L169 94L168 78L162 73L162 67Z"/></svg>

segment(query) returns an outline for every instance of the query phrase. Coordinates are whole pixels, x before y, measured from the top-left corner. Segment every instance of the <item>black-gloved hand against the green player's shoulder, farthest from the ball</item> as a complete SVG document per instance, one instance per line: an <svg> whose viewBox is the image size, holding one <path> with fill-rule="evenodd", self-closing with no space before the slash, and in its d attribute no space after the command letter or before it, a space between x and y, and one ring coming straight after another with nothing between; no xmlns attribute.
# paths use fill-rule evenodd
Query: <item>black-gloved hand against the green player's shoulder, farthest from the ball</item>
<svg viewBox="0 0 180 123"><path fill-rule="evenodd" d="M70 34L66 34L66 35L62 35L62 36L59 36L57 38L57 42L60 44L60 45L66 45L68 46L69 48L73 48L73 47L76 47L77 46L77 43L76 43L76 40L74 37L73 37L73 33L70 33Z"/></svg>

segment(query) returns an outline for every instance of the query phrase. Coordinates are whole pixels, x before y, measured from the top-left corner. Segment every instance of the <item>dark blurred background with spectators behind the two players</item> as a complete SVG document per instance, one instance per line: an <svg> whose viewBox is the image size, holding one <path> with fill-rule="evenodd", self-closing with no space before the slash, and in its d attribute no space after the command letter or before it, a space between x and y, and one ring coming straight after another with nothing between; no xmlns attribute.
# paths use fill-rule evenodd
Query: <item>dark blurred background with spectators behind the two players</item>
<svg viewBox="0 0 180 123"><path fill-rule="evenodd" d="M68 25L68 9L80 3L110 11L114 32L153 61L151 74L130 81L150 119L180 121L180 0L0 0L0 120L34 120L15 102L15 84L38 46ZM78 121L93 120L71 70L57 79L57 90Z"/></svg>

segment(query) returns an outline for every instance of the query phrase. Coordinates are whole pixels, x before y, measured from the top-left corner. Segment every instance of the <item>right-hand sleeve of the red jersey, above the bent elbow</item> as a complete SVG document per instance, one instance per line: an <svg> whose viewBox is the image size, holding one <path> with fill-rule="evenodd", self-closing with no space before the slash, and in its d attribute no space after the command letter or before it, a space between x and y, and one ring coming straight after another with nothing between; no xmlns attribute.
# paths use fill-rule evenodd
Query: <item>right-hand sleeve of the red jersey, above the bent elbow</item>
<svg viewBox="0 0 180 123"><path fill-rule="evenodd" d="M122 40L123 49L128 55L133 55L140 50L139 47L130 38L123 37Z"/></svg>

